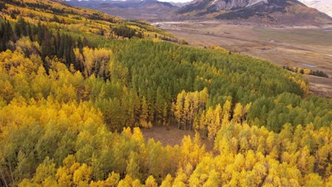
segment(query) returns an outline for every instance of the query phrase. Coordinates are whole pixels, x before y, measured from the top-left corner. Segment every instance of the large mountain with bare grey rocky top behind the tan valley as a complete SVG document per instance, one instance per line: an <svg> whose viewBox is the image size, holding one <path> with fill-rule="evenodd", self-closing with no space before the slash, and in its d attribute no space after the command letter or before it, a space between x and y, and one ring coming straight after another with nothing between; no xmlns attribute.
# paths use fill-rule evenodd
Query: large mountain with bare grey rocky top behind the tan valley
<svg viewBox="0 0 332 187"><path fill-rule="evenodd" d="M328 0L329 1L329 0ZM177 11L184 16L249 19L277 24L329 23L332 18L297 0L197 0Z"/></svg>

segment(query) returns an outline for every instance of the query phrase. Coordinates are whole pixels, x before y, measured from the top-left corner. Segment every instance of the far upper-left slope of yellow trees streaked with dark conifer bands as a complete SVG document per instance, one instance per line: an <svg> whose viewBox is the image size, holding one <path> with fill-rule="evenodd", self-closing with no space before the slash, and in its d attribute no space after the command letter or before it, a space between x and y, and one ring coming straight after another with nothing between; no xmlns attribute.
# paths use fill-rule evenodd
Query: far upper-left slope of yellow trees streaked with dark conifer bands
<svg viewBox="0 0 332 187"><path fill-rule="evenodd" d="M172 38L163 30L139 21L123 21L116 16L86 8L74 8L63 4L63 1L18 1L6 0L2 17L13 21L21 16L26 21L37 25L47 24L50 29L71 34L100 35L106 38L148 38L152 35L160 38ZM2 3L4 4L4 3Z"/></svg>

